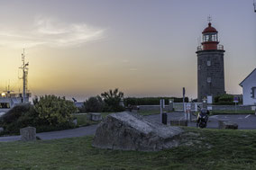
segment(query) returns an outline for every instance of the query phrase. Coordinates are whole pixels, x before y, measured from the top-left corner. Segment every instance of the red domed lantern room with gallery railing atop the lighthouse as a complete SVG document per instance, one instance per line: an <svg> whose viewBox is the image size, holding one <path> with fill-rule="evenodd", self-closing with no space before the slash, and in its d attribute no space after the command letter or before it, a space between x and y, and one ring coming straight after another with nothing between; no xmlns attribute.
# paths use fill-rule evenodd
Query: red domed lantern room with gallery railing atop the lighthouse
<svg viewBox="0 0 256 170"><path fill-rule="evenodd" d="M197 50L224 50L223 45L219 45L218 31L216 31L215 27L212 27L211 22L208 23L208 27L202 33L202 46L199 46Z"/></svg>

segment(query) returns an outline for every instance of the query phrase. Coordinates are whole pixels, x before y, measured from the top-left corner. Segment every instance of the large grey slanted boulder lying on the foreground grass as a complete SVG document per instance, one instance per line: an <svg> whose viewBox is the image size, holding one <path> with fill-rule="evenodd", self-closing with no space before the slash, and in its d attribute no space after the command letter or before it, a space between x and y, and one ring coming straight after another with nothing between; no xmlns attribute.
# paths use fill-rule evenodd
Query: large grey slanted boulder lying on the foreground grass
<svg viewBox="0 0 256 170"><path fill-rule="evenodd" d="M178 146L178 127L150 121L132 112L108 115L99 123L93 147L120 150L158 151Z"/></svg>

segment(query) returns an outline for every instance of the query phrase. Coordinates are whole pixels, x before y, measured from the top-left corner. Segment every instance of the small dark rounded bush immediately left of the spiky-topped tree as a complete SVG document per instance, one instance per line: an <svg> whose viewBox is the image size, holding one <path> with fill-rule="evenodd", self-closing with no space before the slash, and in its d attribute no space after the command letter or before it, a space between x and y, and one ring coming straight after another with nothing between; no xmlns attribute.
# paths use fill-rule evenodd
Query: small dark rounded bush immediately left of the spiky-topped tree
<svg viewBox="0 0 256 170"><path fill-rule="evenodd" d="M104 102L102 98L97 95L95 97L90 97L81 108L84 112L103 112Z"/></svg>

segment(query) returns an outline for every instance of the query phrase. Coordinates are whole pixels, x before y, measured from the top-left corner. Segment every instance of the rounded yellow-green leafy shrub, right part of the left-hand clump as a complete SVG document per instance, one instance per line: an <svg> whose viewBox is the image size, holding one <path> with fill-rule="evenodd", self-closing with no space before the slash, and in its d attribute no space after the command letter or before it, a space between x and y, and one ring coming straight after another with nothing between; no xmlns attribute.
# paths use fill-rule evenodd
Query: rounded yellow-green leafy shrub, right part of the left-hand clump
<svg viewBox="0 0 256 170"><path fill-rule="evenodd" d="M46 121L49 125L59 125L71 120L71 113L77 112L77 108L71 101L65 97L55 95L41 96L38 103L34 105L35 112L38 112L39 118Z"/></svg>

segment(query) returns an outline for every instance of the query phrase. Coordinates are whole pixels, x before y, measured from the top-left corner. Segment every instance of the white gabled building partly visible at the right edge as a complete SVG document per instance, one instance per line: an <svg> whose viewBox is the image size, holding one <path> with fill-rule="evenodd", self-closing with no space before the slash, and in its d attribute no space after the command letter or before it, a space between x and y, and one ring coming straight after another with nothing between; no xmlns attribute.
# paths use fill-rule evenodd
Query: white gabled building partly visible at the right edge
<svg viewBox="0 0 256 170"><path fill-rule="evenodd" d="M239 84L242 86L242 104L256 104L256 68Z"/></svg>

